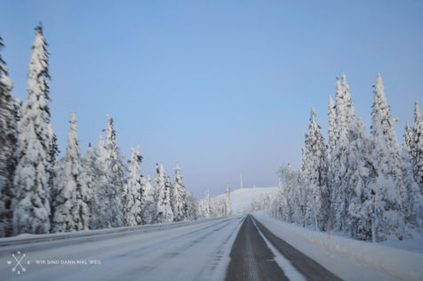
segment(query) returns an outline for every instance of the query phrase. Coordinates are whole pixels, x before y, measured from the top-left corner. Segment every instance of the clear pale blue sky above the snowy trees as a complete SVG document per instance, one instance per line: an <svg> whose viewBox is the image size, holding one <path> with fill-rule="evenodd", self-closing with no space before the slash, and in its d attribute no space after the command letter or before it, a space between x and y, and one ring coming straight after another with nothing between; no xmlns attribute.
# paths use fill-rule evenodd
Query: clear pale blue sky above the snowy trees
<svg viewBox="0 0 423 281"><path fill-rule="evenodd" d="M2 55L24 100L43 22L62 155L71 110L83 151L110 114L143 173L162 162L173 177L179 163L197 197L237 188L240 173L244 187L275 186L280 165L299 167L310 105L326 137L342 72L367 128L382 75L401 142L423 103L423 1L299 2L4 0Z"/></svg>

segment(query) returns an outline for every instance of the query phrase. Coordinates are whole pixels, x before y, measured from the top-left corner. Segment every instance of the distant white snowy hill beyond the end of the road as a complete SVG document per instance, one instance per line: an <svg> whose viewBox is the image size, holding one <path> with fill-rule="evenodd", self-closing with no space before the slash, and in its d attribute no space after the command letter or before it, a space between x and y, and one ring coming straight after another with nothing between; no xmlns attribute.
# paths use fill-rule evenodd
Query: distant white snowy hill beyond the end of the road
<svg viewBox="0 0 423 281"><path fill-rule="evenodd" d="M275 188L251 188L251 189L235 189L230 193L232 212L237 213L243 211L244 208L251 205L252 199L259 200L261 195L275 192ZM218 197L225 197L225 194L220 194Z"/></svg>

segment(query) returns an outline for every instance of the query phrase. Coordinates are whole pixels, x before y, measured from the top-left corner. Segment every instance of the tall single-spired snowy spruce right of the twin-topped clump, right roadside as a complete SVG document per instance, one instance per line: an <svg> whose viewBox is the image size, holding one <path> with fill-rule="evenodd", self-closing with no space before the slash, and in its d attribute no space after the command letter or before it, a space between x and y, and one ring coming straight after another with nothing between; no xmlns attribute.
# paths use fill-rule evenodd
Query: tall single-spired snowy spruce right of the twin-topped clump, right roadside
<svg viewBox="0 0 423 281"><path fill-rule="evenodd" d="M373 159L378 177L376 179L376 216L378 240L387 237L403 238L404 203L406 190L398 141L395 135L395 119L391 118L380 75L374 84L374 102L371 112Z"/></svg>

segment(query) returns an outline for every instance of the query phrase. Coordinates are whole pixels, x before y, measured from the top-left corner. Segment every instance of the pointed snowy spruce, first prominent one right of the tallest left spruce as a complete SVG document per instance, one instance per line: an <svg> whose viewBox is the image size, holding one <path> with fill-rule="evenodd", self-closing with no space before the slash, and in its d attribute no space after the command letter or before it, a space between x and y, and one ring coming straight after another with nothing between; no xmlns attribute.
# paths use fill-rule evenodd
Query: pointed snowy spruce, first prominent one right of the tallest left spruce
<svg viewBox="0 0 423 281"><path fill-rule="evenodd" d="M76 116L70 113L68 148L58 194L54 198L53 232L78 231L89 228L90 210L88 192L76 125Z"/></svg>

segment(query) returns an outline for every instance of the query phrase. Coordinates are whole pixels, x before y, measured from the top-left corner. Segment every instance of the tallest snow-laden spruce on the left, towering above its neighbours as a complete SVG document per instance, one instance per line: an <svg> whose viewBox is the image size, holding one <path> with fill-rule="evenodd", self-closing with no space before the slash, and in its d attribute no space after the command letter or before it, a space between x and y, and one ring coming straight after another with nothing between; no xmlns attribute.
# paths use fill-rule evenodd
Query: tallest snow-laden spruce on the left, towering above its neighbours
<svg viewBox="0 0 423 281"><path fill-rule="evenodd" d="M29 62L27 100L22 107L16 167L13 179L13 234L47 233L50 229L49 133L50 79L47 42L36 28Z"/></svg>

